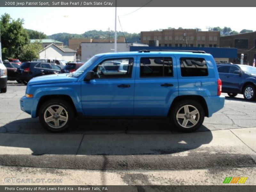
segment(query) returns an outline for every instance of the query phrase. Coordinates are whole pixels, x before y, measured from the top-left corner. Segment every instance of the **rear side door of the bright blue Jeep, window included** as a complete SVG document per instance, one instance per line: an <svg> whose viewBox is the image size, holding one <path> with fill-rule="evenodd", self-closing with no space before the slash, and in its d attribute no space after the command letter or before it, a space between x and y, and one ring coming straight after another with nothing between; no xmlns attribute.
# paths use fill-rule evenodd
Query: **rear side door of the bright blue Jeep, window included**
<svg viewBox="0 0 256 192"><path fill-rule="evenodd" d="M152 55L152 54L151 54ZM138 57L134 90L135 116L167 116L178 96L174 56Z"/></svg>

